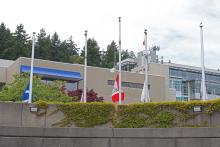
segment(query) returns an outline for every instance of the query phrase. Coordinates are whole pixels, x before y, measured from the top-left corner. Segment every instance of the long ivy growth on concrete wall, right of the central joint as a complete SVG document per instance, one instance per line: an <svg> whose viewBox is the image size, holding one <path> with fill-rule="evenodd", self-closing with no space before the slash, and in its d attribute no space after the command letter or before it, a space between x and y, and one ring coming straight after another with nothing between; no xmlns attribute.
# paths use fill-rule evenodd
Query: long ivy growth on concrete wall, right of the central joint
<svg viewBox="0 0 220 147"><path fill-rule="evenodd" d="M220 112L220 99L190 102L158 102L119 105L113 125L118 128L170 128L189 126L188 120L200 113L194 113L194 106L201 106L206 115ZM204 126L207 123L195 126Z"/></svg>

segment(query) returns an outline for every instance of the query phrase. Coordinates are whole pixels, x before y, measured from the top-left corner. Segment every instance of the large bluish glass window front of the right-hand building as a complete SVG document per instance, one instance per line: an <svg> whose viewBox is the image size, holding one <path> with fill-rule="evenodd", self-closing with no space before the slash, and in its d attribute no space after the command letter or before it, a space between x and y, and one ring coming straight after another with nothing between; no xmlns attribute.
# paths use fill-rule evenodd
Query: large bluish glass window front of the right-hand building
<svg viewBox="0 0 220 147"><path fill-rule="evenodd" d="M171 67L169 69L170 83L169 87L176 89L177 100L184 100L188 97L196 97L200 93L202 73L200 70L178 69ZM206 72L206 90L207 94L220 96L220 75L217 73ZM185 82L186 81L186 82ZM188 89L188 82L190 89Z"/></svg>

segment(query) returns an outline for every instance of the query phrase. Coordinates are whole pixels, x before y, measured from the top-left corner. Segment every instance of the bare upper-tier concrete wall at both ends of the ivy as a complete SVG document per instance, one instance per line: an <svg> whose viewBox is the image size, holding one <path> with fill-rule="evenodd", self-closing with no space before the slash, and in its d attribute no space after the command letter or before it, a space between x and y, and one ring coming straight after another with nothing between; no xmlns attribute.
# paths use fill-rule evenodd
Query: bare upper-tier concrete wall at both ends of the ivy
<svg viewBox="0 0 220 147"><path fill-rule="evenodd" d="M38 116L34 112L30 112L30 106L31 105L26 103L0 102L0 126L50 128L58 127L53 126L53 124L60 122L64 118L64 114L61 111L53 113L57 109L56 105L49 105L47 113L41 116ZM202 112L192 113L197 114L195 118L187 121L177 122L177 126L220 126L220 113L215 113L213 115L207 115ZM73 124L70 127L76 126ZM97 127L111 128L112 125L111 122L109 122L108 124Z"/></svg>

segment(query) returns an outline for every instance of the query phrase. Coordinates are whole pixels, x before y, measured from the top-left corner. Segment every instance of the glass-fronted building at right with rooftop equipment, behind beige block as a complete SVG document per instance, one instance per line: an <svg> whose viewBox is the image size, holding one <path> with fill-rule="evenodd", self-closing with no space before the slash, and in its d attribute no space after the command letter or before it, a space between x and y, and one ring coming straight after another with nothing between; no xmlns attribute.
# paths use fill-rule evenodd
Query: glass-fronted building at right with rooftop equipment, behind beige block
<svg viewBox="0 0 220 147"><path fill-rule="evenodd" d="M153 48L148 56L149 74L165 77L170 93L174 92L177 101L201 99L201 67L174 64L158 60ZM137 67L131 71L144 73L143 51L138 53ZM153 59L153 60L152 60ZM208 99L220 98L220 71L219 69L205 69L206 93Z"/></svg>

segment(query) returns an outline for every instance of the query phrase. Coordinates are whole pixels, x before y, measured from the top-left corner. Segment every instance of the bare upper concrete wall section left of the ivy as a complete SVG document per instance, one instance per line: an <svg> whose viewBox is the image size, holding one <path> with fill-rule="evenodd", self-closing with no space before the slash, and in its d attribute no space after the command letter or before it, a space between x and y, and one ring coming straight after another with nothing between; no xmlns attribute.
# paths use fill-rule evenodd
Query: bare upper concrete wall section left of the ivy
<svg viewBox="0 0 220 147"><path fill-rule="evenodd" d="M49 105L47 113L40 116L30 112L30 106L34 105L0 102L0 126L52 127L54 123L64 118L64 114L60 111L50 115L56 110L56 105Z"/></svg>

